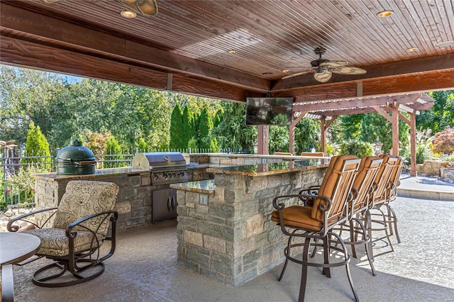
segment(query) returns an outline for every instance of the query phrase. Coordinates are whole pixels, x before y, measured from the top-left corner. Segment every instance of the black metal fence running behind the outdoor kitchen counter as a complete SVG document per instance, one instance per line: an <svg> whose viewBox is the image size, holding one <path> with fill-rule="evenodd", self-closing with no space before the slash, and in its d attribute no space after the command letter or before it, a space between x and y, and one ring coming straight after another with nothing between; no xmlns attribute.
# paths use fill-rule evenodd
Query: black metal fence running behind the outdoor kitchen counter
<svg viewBox="0 0 454 302"><path fill-rule="evenodd" d="M136 152L182 152L195 153L189 149L123 150L121 154L95 155L96 169L131 167ZM248 150L226 150L220 153L248 153ZM196 153L213 153L209 149L196 150ZM57 150L55 151L57 154ZM0 157L0 212L7 208L33 206L35 199L35 179L31 174L55 172L55 156L24 155L22 150L2 152Z"/></svg>

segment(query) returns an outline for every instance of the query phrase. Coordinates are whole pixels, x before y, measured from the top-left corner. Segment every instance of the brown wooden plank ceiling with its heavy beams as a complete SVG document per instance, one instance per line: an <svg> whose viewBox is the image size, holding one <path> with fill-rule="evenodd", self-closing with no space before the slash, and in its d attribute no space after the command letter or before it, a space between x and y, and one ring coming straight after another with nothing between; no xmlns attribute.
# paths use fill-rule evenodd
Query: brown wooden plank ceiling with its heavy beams
<svg viewBox="0 0 454 302"><path fill-rule="evenodd" d="M358 96L372 104L378 96L454 88L450 0L157 0L157 6L156 16L124 18L120 1L1 0L0 62L231 101L270 91L293 96L296 107ZM377 17L384 9L394 13ZM310 67L315 47L326 48L323 58L367 72L333 74L323 84L311 73L282 79ZM418 50L406 51L411 47ZM326 115L336 101L313 111Z"/></svg>

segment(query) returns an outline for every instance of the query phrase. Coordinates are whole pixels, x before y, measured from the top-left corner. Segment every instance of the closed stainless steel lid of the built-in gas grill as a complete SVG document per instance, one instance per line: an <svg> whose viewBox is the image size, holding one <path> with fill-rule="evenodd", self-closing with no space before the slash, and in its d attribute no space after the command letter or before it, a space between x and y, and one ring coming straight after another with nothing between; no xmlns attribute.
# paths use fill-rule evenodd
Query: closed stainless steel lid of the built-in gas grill
<svg viewBox="0 0 454 302"><path fill-rule="evenodd" d="M180 152L135 153L133 167L144 170L186 167L186 160Z"/></svg>

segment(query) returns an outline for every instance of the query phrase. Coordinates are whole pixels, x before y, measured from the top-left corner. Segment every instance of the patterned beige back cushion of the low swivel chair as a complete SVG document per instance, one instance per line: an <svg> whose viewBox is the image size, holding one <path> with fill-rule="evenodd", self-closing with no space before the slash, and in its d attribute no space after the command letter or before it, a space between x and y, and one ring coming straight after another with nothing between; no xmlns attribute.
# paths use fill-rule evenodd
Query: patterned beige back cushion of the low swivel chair
<svg viewBox="0 0 454 302"><path fill-rule="evenodd" d="M66 186L57 213L55 213L54 228L66 229L70 223L91 216L95 213L111 211L114 209L118 186L104 181L70 181ZM94 232L106 235L109 220L101 224L105 216L89 219L82 223L84 227ZM74 230L86 230L75 227Z"/></svg>

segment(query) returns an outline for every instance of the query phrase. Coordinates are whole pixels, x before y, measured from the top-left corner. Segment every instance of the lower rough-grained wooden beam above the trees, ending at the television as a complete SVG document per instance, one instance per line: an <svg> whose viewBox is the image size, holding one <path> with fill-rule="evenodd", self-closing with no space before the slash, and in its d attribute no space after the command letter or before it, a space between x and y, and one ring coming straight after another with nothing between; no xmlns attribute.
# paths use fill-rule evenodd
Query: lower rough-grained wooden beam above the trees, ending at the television
<svg viewBox="0 0 454 302"><path fill-rule="evenodd" d="M185 74L173 74L171 77L172 89L167 89L167 73L165 72L157 72L145 67L57 49L4 35L1 35L0 62L229 101L244 102L246 96L262 96L257 91L250 91L236 85L188 77Z"/></svg>

